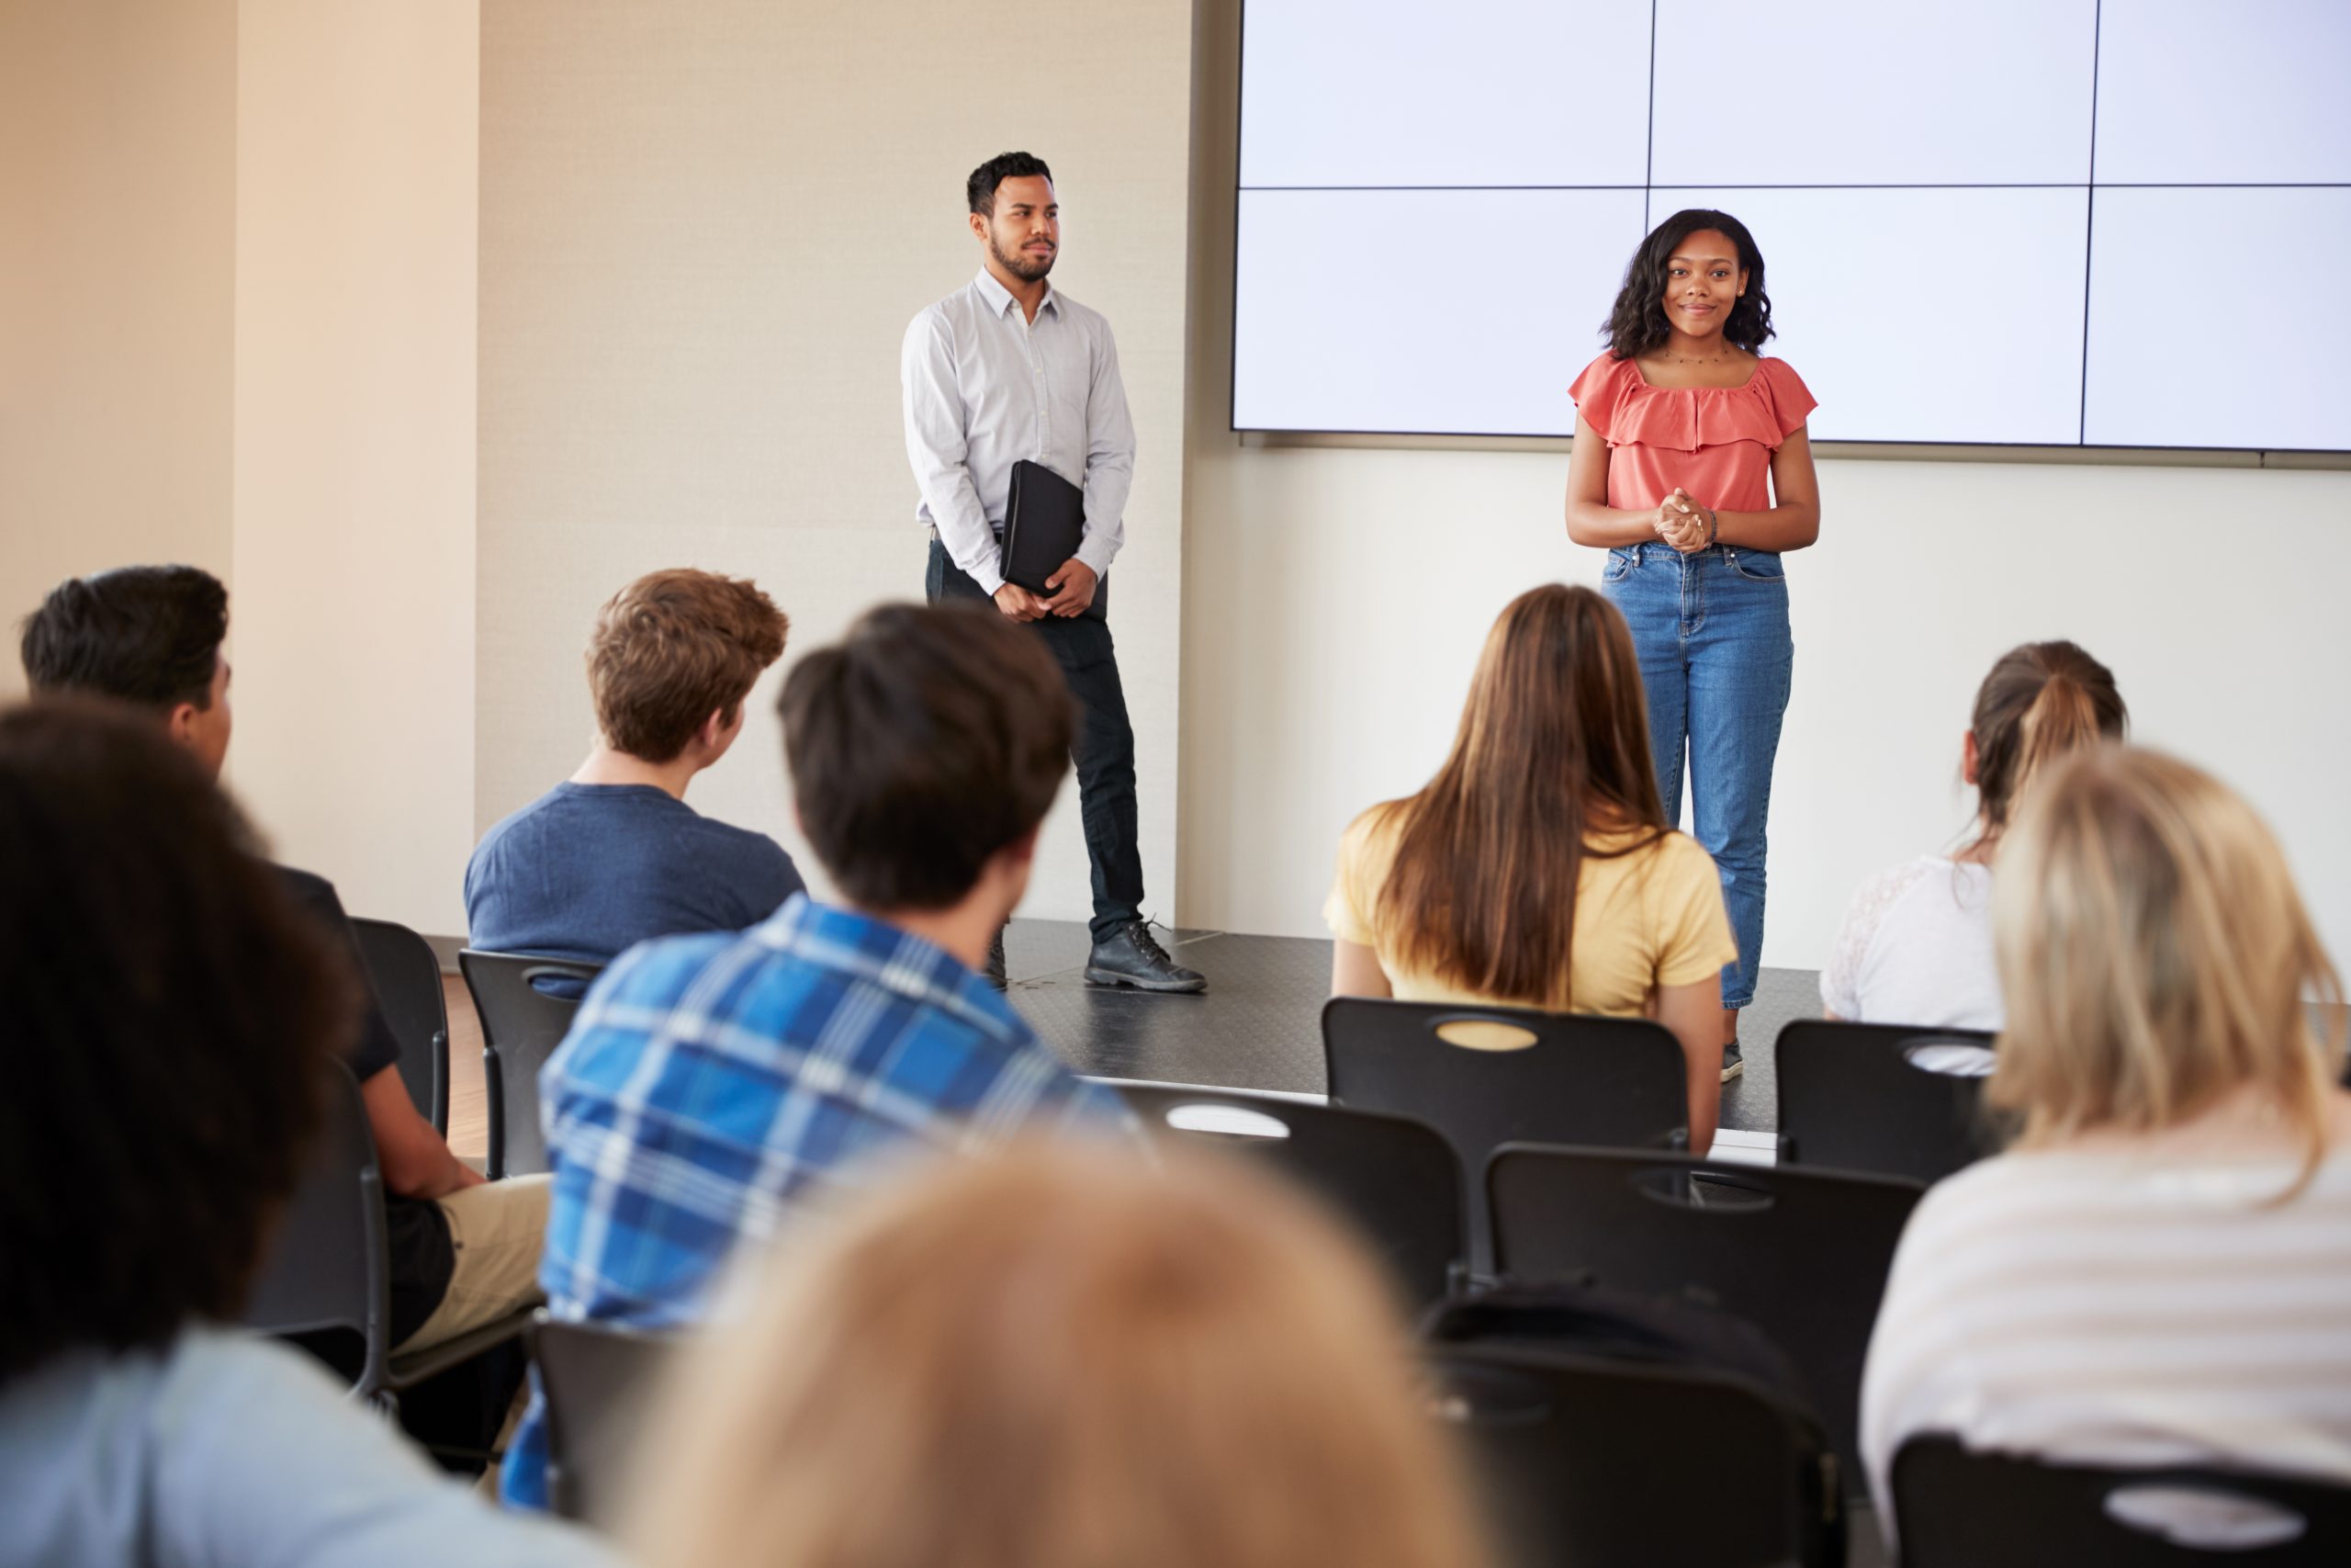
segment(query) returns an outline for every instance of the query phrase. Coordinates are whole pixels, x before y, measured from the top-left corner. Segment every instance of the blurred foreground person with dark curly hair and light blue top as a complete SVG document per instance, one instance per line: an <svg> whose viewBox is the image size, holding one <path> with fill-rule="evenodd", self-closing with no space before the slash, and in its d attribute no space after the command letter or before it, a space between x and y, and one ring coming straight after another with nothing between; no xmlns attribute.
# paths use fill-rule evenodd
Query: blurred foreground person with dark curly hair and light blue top
<svg viewBox="0 0 2351 1568"><path fill-rule="evenodd" d="M0 710L0 1561L607 1563L235 1328L360 978L200 755Z"/></svg>

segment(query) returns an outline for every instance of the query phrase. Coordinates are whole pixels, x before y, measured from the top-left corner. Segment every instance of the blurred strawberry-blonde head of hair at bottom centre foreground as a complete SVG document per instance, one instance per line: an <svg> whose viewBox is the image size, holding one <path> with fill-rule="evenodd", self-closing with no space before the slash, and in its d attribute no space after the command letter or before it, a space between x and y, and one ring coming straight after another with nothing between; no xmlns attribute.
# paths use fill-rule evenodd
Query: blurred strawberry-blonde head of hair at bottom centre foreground
<svg viewBox="0 0 2351 1568"><path fill-rule="evenodd" d="M1020 1147L785 1246L668 1394L665 1568L1469 1568L1359 1251L1270 1175Z"/></svg>

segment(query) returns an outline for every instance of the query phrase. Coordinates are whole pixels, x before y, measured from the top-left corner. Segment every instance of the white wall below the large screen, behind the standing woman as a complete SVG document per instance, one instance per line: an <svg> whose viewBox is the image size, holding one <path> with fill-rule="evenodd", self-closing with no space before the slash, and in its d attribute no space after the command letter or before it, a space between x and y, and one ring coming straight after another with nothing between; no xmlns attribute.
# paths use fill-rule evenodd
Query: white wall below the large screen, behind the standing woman
<svg viewBox="0 0 2351 1568"><path fill-rule="evenodd" d="M1493 616L1601 557L1566 541L1563 456L1230 433L1237 2L1201 12L1180 914L1321 936L1340 830L1444 759ZM2031 637L2083 642L2142 741L2252 797L2351 954L2351 618L2318 545L2351 527L2351 473L1827 461L1820 482L1822 543L1789 557L1766 964L1820 966L1864 875L1965 827L1968 703Z"/></svg>

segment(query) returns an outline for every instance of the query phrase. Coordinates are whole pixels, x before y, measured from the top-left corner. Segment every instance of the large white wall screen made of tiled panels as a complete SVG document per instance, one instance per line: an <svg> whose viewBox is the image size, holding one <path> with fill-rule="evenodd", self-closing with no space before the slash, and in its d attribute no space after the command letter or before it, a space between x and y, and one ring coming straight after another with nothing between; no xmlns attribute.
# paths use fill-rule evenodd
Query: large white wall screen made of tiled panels
<svg viewBox="0 0 2351 1568"><path fill-rule="evenodd" d="M1683 207L1815 440L2351 449L2351 0L1246 0L1232 423L1568 435Z"/></svg>

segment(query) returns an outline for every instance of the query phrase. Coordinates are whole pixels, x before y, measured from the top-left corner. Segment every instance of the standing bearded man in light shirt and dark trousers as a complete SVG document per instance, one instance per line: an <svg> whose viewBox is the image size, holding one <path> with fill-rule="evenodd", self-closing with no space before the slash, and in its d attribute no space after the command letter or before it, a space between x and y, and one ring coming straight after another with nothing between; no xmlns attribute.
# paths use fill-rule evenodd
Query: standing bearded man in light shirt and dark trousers
<svg viewBox="0 0 2351 1568"><path fill-rule="evenodd" d="M994 599L1009 621L1034 628L1077 698L1081 726L1072 757L1093 863L1086 983L1206 990L1143 919L1136 731L1126 722L1103 583L1126 538L1126 491L1136 477L1119 348L1110 322L1046 282L1060 254L1060 205L1044 160L999 153L971 172L964 190L980 275L917 315L898 357L905 449L922 487L915 515L931 529L924 588L933 604ZM1084 538L1046 578L1049 595L1006 583L999 569L1020 458L1086 491ZM1002 931L987 950L987 980L1004 987Z"/></svg>

